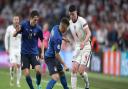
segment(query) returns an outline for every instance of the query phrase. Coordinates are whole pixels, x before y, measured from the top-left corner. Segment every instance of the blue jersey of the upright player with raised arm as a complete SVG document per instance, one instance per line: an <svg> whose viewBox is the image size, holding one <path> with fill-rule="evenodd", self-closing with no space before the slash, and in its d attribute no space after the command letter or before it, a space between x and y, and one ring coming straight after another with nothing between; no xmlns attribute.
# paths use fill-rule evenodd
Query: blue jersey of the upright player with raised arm
<svg viewBox="0 0 128 89"><path fill-rule="evenodd" d="M21 23L21 53L38 55L38 39L43 40L43 33L39 25L31 26L30 21Z"/></svg>

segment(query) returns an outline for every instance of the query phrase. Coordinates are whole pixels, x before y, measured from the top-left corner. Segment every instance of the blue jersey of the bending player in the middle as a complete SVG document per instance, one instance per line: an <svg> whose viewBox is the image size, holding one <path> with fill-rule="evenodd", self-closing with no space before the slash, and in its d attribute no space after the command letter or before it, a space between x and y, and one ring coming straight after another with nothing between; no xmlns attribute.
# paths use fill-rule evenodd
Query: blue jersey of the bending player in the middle
<svg viewBox="0 0 128 89"><path fill-rule="evenodd" d="M45 57L55 57L61 49L62 34L59 30L59 25L53 27L49 38L48 49L45 52Z"/></svg>

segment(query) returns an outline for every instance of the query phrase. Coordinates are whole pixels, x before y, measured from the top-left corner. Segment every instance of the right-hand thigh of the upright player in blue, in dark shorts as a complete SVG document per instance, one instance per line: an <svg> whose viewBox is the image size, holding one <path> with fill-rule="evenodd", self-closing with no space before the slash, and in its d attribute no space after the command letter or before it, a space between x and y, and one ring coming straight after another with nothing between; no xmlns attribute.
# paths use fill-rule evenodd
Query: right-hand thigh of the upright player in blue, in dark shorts
<svg viewBox="0 0 128 89"><path fill-rule="evenodd" d="M36 67L35 69L39 70L39 66L40 66L39 57L35 55L31 55L30 61L31 61L32 69Z"/></svg>

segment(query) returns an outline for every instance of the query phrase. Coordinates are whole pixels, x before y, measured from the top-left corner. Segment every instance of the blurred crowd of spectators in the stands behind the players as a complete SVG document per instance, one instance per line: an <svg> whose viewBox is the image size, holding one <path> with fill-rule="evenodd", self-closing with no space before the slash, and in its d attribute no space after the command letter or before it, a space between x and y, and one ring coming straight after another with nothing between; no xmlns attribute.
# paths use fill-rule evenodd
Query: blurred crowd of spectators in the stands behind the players
<svg viewBox="0 0 128 89"><path fill-rule="evenodd" d="M128 0L0 0L0 48L6 27L18 13L22 19L38 10L40 24L49 23L49 30L68 16L68 7L75 4L92 31L93 51L128 50ZM66 44L63 46L66 50Z"/></svg>

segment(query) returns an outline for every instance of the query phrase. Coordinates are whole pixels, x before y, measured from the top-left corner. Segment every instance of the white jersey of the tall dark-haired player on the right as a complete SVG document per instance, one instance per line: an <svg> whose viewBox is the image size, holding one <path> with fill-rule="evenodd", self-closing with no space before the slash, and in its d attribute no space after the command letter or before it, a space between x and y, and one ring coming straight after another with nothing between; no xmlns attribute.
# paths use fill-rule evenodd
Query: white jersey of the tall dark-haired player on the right
<svg viewBox="0 0 128 89"><path fill-rule="evenodd" d="M86 32L84 31L83 27L88 28L87 21L83 17L78 16L78 19L75 23L70 20L69 29L76 45L80 45L80 43L85 40ZM85 46L87 45L90 45L90 39L85 43Z"/></svg>

